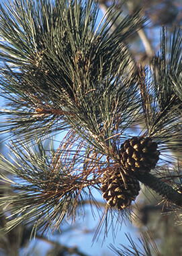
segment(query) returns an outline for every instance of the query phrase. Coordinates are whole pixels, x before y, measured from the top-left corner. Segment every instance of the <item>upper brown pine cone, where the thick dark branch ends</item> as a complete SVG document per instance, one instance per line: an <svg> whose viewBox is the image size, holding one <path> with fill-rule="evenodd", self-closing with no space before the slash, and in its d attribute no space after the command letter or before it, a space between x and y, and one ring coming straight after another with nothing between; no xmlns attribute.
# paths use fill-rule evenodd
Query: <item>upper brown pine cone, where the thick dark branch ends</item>
<svg viewBox="0 0 182 256"><path fill-rule="evenodd" d="M120 161L127 170L134 172L150 172L156 166L160 152L157 143L150 137L132 137L120 148Z"/></svg>

